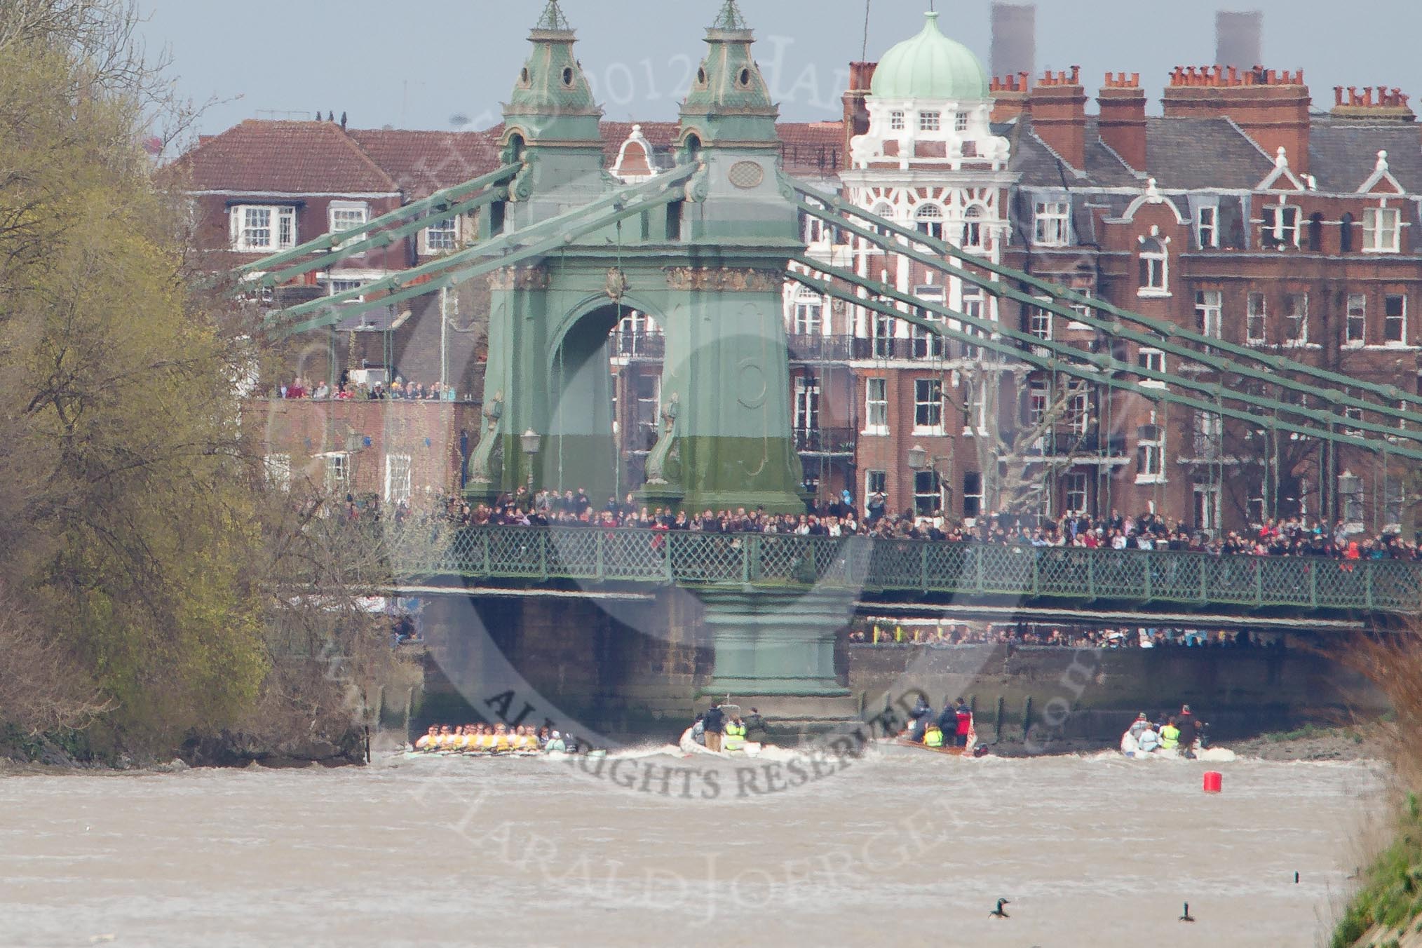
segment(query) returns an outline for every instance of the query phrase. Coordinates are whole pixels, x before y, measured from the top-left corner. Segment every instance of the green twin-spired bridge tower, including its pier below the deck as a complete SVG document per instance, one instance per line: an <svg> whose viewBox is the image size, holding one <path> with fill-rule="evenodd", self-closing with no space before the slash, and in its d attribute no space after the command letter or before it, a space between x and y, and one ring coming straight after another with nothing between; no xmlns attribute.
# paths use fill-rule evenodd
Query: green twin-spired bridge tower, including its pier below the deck
<svg viewBox="0 0 1422 948"><path fill-rule="evenodd" d="M567 216L555 250L493 274L485 422L469 495L532 485L616 489L609 333L631 310L663 327L661 424L644 502L688 513L725 507L802 512L791 436L785 271L802 253L798 209L778 181L779 114L735 0L681 109L677 163L643 190L603 168L602 115L549 0L533 53L505 107L505 161L522 162L485 236ZM658 183L660 182L660 183ZM640 203L638 203L640 202ZM633 212L577 227L589 208ZM644 206L637 212L638 206ZM833 635L843 591L701 590L715 635L708 695L754 696L782 719L843 719Z"/></svg>

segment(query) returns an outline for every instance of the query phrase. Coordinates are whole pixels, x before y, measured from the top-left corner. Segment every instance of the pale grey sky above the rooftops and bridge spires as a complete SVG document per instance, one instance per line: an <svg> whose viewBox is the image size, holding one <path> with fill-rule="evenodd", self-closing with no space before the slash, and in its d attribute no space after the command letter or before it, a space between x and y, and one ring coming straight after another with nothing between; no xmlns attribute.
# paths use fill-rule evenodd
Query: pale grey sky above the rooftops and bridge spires
<svg viewBox="0 0 1422 948"><path fill-rule="evenodd" d="M499 121L543 0L141 0L151 47L168 45L179 90L225 99L218 132L243 118L316 109L353 126L451 128ZM929 0L872 0L869 58L921 27ZM988 61L990 0L937 0L946 33ZM671 119L720 0L563 0L607 117ZM1402 87L1422 99L1419 0L1038 0L1037 67L1142 74L1159 98L1176 64L1214 58L1214 10L1264 11L1264 65L1304 68L1318 107L1334 85ZM859 58L865 0L741 0L757 55L788 119L836 118Z"/></svg>

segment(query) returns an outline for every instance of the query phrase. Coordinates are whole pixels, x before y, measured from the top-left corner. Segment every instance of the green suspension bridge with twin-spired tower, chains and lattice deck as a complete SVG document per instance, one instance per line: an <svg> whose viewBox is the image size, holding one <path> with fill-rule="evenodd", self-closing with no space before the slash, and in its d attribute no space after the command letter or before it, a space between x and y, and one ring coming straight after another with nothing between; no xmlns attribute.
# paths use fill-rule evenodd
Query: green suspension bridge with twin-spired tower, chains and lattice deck
<svg viewBox="0 0 1422 948"><path fill-rule="evenodd" d="M279 334L320 331L368 308L492 277L485 422L469 462L471 499L538 489L538 455L556 456L566 482L613 483L611 382L602 355L610 330L636 310L654 316L665 333L664 424L638 497L688 512L803 512L782 320L786 279L985 355L1206 411L1274 438L1314 438L1368 452L1382 465L1422 459L1416 395L1082 297L786 176L778 107L735 0L707 30L708 50L681 107L675 166L631 185L604 171L602 109L557 0L549 0L529 40L533 51L505 105L496 171L338 239L324 236L243 267L249 286L273 287L451 215L478 212L476 244L270 316ZM1187 368L1155 371L1118 358L1111 345L1088 351L907 296L806 256L803 217L933 267L943 280L1030 301L1113 340L1148 343L1177 368L1263 379L1261 391L1278 394L1202 381ZM536 452L523 445L530 435ZM1422 567L1412 563L1165 550L475 527L434 561L422 556L404 566L431 583L687 587L714 631L715 671L705 691L738 696L845 696L833 637L853 600L867 594L1111 603L1140 613L1160 604L1276 615L1422 610Z"/></svg>

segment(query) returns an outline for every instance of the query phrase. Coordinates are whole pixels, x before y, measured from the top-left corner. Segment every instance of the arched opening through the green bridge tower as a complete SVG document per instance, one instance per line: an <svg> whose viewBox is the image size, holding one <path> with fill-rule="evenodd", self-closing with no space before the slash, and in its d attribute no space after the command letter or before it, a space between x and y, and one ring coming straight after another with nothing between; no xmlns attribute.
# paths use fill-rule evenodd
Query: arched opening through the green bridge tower
<svg viewBox="0 0 1422 948"><path fill-rule="evenodd" d="M661 381L660 360L644 357L661 354L658 341L653 317L614 303L584 313L557 340L543 486L560 493L586 489L600 510L609 497L641 485L641 462L657 435Z"/></svg>

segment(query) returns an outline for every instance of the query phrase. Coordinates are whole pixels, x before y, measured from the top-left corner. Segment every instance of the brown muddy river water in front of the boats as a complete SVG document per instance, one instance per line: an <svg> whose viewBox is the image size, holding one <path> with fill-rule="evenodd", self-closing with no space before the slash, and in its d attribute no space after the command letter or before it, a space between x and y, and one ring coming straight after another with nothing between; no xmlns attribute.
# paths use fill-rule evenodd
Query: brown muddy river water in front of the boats
<svg viewBox="0 0 1422 948"><path fill-rule="evenodd" d="M0 777L0 945L1310 947L1381 806L1365 763L1214 796L1194 762L907 753Z"/></svg>

